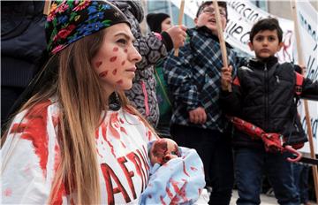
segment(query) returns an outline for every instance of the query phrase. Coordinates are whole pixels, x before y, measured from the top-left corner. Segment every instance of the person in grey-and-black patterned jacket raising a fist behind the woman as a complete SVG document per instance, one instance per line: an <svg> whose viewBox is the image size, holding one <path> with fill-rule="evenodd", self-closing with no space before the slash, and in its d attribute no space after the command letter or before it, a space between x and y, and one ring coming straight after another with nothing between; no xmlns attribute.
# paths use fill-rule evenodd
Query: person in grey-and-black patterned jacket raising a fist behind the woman
<svg viewBox="0 0 318 205"><path fill-rule="evenodd" d="M133 36L136 41L133 45L140 52L142 60L137 64L136 76L133 79L133 88L126 91L128 99L148 120L156 126L159 120L159 107L155 95L154 65L173 48L182 46L186 39L186 27L174 26L162 33L142 35L140 22L144 19L144 11L140 0L116 1L110 0L121 11L132 25Z"/></svg>

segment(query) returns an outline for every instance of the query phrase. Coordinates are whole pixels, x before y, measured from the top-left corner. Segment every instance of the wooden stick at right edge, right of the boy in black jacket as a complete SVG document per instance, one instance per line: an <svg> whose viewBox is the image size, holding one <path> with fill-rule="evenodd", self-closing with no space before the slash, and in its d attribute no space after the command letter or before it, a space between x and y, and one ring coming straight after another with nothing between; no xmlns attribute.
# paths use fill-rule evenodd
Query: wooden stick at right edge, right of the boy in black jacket
<svg viewBox="0 0 318 205"><path fill-rule="evenodd" d="M297 23L298 16L297 16L295 0L292 0L291 5L292 5L292 17L293 17L293 22L295 27L295 36L296 36L296 42L297 42L297 54L299 59L299 65L305 65L303 53L300 46L299 27ZM302 71L302 74L305 75L305 71ZM305 108L305 118L306 118L306 124L307 124L307 135L308 135L308 141L309 141L310 156L311 158L315 159L314 140L313 140L314 138L313 138L312 126L310 122L308 102L307 100L303 100L303 103ZM316 201L318 204L318 170L317 170L317 166L312 166L312 167L313 167L313 177L314 177L314 191L315 191Z"/></svg>

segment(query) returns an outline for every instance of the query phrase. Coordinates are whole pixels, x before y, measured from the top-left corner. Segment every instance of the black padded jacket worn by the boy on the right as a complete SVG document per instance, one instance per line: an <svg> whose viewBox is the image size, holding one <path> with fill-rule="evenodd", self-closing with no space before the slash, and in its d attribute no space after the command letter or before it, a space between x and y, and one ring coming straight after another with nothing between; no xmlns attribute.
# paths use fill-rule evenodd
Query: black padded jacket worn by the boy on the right
<svg viewBox="0 0 318 205"><path fill-rule="evenodd" d="M288 144L307 141L297 114L294 71L294 65L280 65L276 57L269 57L265 63L251 60L246 67L239 68L239 85L232 85L233 92L222 92L223 110L261 127L266 133L283 134ZM317 99L318 82L305 79L301 96ZM252 140L239 131L235 132L233 143L234 146L263 146L261 140Z"/></svg>

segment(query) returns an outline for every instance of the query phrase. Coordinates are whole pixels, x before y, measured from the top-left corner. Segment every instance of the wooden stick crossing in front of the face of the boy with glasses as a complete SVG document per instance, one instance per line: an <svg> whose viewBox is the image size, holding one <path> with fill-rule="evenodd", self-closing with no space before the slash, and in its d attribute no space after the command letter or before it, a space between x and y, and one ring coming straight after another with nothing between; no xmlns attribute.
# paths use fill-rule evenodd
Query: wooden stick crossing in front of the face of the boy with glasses
<svg viewBox="0 0 318 205"><path fill-rule="evenodd" d="M219 7L217 4L217 0L213 0L213 6L216 12L216 27L217 27L217 35L220 42L221 53L222 53L222 60L223 60L223 67L228 67L228 60L227 60L227 52L226 52L226 45L223 38L223 27L221 22L221 15L219 11ZM231 84L228 86L228 91L231 92Z"/></svg>

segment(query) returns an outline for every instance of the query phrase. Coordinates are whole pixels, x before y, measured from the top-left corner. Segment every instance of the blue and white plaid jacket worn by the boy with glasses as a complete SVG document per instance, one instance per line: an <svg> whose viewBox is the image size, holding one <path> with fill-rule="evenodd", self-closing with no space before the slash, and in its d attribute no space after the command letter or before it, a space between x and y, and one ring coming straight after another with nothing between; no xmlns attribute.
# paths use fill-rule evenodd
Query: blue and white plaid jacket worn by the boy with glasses
<svg viewBox="0 0 318 205"><path fill-rule="evenodd" d="M218 38L207 27L188 29L187 34L189 41L179 49L178 57L171 52L163 65L173 99L170 123L223 132L225 119L219 106L223 62ZM228 44L227 54L234 75L244 59L239 59ZM199 106L207 113L207 122L202 125L189 121L189 111Z"/></svg>

